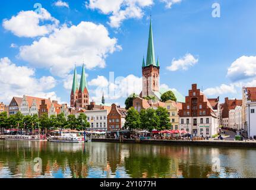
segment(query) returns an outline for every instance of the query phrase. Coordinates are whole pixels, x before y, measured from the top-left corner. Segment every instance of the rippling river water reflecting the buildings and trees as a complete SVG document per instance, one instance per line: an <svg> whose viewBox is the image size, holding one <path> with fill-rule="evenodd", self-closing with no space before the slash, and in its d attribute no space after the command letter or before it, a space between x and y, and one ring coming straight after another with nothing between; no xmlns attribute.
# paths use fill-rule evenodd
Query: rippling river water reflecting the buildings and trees
<svg viewBox="0 0 256 190"><path fill-rule="evenodd" d="M0 140L0 178L256 178L256 149Z"/></svg>

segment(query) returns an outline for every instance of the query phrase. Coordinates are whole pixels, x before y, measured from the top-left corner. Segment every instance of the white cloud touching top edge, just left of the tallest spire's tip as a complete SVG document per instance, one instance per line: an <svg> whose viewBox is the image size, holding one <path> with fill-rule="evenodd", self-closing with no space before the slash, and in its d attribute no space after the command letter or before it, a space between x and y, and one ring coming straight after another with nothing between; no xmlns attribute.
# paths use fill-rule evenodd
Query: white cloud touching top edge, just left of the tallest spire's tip
<svg viewBox="0 0 256 190"><path fill-rule="evenodd" d="M143 8L151 5L153 0L89 0L86 7L110 15L109 25L118 28L124 20L142 18Z"/></svg>

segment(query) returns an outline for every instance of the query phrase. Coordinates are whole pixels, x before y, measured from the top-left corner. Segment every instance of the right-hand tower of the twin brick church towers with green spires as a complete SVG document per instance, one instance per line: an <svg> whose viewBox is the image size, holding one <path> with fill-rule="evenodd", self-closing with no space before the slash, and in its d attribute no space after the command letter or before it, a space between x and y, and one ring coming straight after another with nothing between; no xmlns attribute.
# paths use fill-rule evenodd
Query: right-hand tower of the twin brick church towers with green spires
<svg viewBox="0 0 256 190"><path fill-rule="evenodd" d="M81 74L80 87L78 91L78 103L77 107L86 108L89 105L89 92L87 90L86 72L84 71L84 65Z"/></svg>

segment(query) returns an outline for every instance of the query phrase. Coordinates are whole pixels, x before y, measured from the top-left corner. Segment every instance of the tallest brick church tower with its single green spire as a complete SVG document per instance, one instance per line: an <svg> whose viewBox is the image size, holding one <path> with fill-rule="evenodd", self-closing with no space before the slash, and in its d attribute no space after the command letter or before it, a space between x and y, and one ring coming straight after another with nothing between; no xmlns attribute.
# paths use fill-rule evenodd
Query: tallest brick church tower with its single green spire
<svg viewBox="0 0 256 190"><path fill-rule="evenodd" d="M142 65L143 73L143 90L141 97L147 97L150 95L156 96L155 93L159 92L159 74L160 74L160 65L159 59L154 56L154 40L153 40L153 31L150 18L150 29L148 36L148 47L147 47L147 60L143 58Z"/></svg>

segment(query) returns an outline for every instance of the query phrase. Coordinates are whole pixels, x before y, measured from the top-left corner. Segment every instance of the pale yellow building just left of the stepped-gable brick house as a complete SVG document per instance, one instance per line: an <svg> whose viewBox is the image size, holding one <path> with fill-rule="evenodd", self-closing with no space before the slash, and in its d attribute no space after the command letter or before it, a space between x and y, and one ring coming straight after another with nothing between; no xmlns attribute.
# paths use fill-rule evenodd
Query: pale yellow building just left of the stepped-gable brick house
<svg viewBox="0 0 256 190"><path fill-rule="evenodd" d="M182 109L182 104L172 100L167 100L165 102L165 108L168 111L170 124L172 124L170 129L179 129L179 110Z"/></svg>

